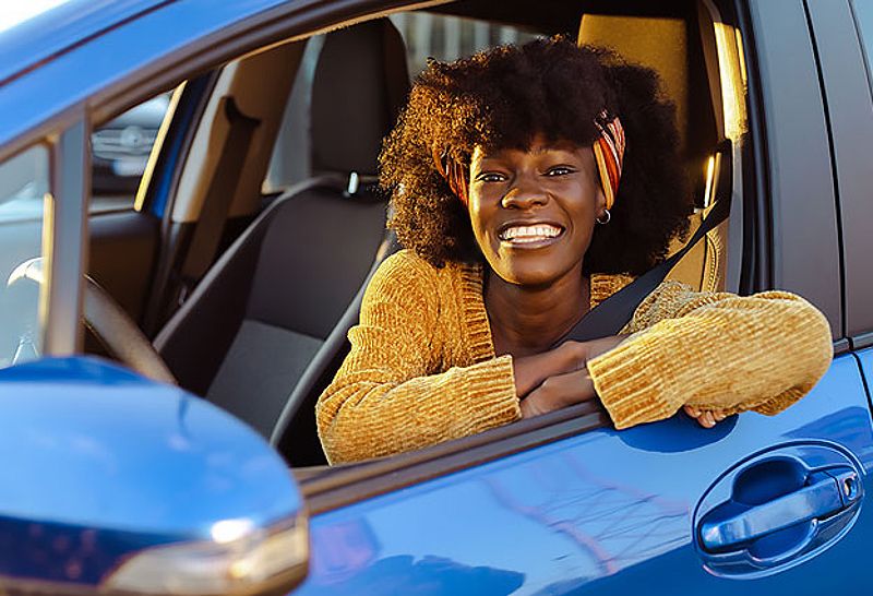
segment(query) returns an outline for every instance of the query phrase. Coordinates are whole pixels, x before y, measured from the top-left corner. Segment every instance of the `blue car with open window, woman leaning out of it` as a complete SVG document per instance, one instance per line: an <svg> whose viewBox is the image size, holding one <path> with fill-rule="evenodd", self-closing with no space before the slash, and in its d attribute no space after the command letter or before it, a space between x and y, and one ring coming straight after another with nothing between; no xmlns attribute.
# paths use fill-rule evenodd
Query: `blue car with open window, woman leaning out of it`
<svg viewBox="0 0 873 596"><path fill-rule="evenodd" d="M804 296L830 369L714 429L583 404L327 466L410 76L554 34L658 70L693 225L730 205L670 275ZM0 32L0 592L863 592L871 64L868 0L67 0ZM163 94L107 207L92 133Z"/></svg>

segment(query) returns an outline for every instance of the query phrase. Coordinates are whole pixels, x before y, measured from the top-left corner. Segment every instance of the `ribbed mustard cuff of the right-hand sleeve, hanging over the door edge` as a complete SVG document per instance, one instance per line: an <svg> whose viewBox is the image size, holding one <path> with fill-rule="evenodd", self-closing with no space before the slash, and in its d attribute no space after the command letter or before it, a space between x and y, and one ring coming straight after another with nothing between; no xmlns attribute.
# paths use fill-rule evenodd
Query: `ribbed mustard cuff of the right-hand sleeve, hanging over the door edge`
<svg viewBox="0 0 873 596"><path fill-rule="evenodd" d="M669 418L682 406L679 395L665 391L658 373L662 358L654 357L641 339L630 338L586 363L617 429Z"/></svg>

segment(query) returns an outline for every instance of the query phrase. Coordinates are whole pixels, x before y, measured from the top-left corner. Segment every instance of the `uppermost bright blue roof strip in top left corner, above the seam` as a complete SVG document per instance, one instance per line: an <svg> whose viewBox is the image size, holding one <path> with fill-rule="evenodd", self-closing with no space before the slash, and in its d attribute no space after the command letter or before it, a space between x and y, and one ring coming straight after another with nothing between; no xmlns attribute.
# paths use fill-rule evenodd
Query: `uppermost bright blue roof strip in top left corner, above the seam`
<svg viewBox="0 0 873 596"><path fill-rule="evenodd" d="M0 32L0 86L76 45L177 0L65 0Z"/></svg>

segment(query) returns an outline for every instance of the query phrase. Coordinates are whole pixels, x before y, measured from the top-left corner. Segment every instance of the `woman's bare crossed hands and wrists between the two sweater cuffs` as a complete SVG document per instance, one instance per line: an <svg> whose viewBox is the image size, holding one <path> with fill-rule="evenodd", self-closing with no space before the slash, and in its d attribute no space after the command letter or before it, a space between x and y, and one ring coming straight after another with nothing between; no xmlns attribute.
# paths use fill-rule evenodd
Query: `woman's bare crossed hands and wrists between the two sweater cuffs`
<svg viewBox="0 0 873 596"><path fill-rule="evenodd" d="M590 342L564 342L552 350L516 358L513 367L522 417L539 416L596 397L585 365L623 339L615 335Z"/></svg>

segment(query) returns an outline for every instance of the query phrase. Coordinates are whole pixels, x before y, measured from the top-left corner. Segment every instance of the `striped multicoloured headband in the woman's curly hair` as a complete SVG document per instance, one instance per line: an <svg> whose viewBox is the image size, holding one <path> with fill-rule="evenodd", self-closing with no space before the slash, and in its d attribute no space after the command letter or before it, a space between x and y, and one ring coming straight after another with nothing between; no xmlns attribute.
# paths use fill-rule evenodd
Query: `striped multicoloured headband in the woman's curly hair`
<svg viewBox="0 0 873 596"><path fill-rule="evenodd" d="M618 116L609 117L606 110L595 119L595 126L600 136L594 142L594 157L597 170L600 174L600 184L607 199L607 208L612 208L615 203L615 193L619 191L621 168L624 164L624 128ZM433 147L433 164L440 176L449 182L449 188L464 205L469 203L469 184L467 171L463 164L449 158L447 150L440 151Z"/></svg>

